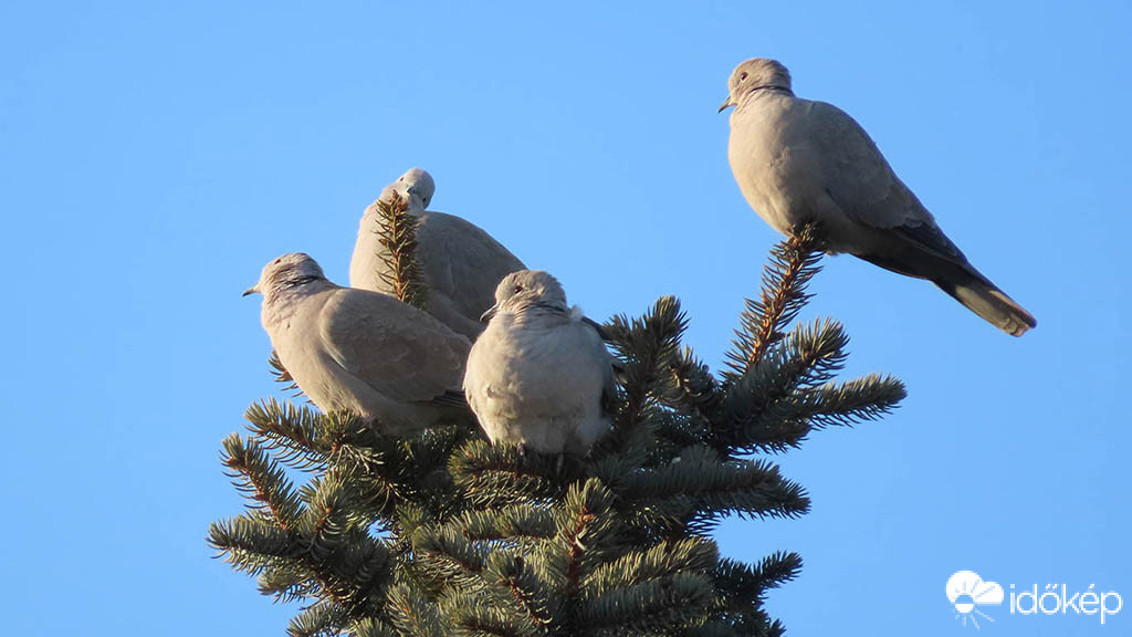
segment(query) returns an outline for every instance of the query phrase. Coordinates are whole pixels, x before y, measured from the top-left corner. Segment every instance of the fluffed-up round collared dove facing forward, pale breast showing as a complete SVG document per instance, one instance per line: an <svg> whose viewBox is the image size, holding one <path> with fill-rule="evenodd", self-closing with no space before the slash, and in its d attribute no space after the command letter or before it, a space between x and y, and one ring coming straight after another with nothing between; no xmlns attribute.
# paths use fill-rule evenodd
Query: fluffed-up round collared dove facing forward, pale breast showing
<svg viewBox="0 0 1132 637"><path fill-rule="evenodd" d="M614 358L554 277L508 274L468 355L464 394L492 443L586 453L609 431Z"/></svg>

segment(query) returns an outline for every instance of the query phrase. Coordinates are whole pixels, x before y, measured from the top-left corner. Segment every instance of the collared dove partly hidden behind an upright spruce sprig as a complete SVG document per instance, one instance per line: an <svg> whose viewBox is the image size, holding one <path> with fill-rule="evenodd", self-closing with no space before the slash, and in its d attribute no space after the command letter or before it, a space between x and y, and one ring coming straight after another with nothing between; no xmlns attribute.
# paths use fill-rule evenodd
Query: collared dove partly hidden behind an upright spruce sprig
<svg viewBox="0 0 1132 637"><path fill-rule="evenodd" d="M387 186L378 201L388 201L394 192L419 219L415 256L428 287L429 314L474 340L483 331L479 317L494 303L496 286L507 274L523 270L523 262L480 227L452 214L426 211L436 192L428 172L409 170ZM362 214L350 262L350 286L393 294L383 280L388 267L381 255L388 250L378 240L378 214L377 202Z"/></svg>

